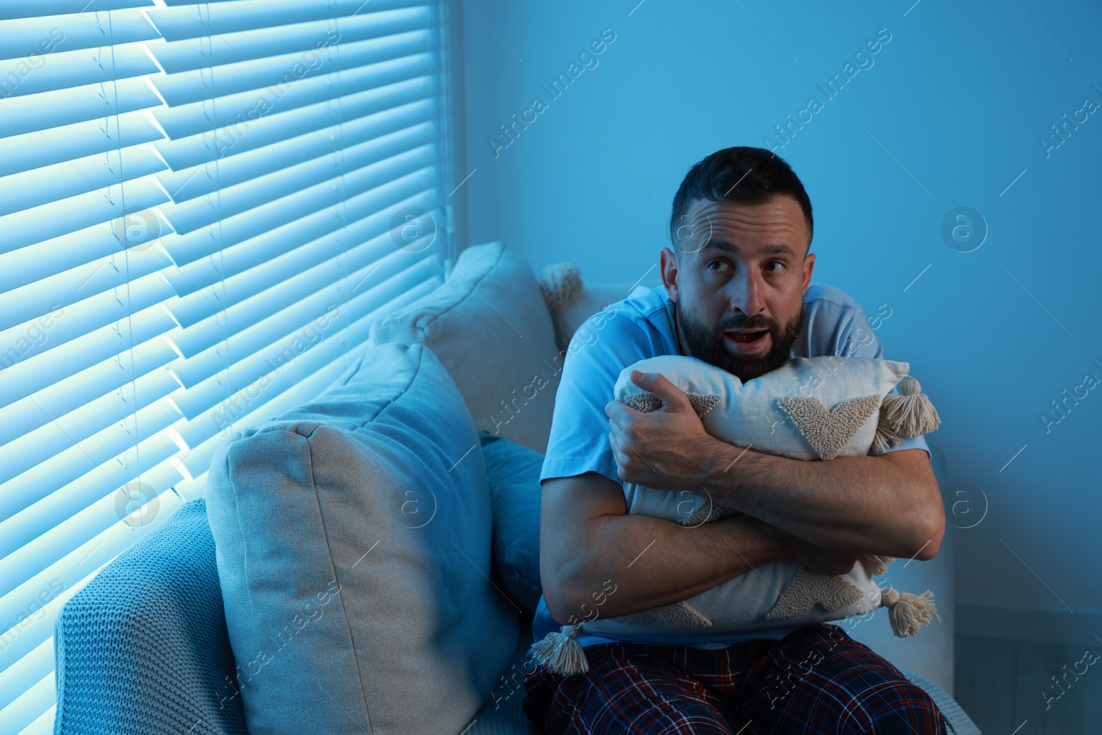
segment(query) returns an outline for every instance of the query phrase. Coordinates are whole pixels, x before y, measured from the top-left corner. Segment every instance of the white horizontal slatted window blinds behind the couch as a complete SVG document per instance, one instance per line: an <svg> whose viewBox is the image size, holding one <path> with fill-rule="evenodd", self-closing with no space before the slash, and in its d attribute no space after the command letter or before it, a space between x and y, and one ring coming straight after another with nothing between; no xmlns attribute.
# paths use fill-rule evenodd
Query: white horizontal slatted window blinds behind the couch
<svg viewBox="0 0 1102 735"><path fill-rule="evenodd" d="M0 0L0 732L61 605L449 255L439 2Z"/></svg>

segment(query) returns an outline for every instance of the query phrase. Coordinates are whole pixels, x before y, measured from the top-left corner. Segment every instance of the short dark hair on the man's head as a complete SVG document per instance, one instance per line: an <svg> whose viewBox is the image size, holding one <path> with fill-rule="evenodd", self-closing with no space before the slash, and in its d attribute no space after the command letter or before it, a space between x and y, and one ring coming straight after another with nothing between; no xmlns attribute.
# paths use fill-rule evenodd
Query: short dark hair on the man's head
<svg viewBox="0 0 1102 735"><path fill-rule="evenodd" d="M733 204L765 204L777 195L791 196L803 210L808 225L808 248L814 233L811 219L811 199L803 191L803 184L791 166L775 153L764 148L735 145L716 151L695 163L685 174L678 193L673 196L670 213L670 240L677 249L678 227L693 199L706 202L731 202Z"/></svg>

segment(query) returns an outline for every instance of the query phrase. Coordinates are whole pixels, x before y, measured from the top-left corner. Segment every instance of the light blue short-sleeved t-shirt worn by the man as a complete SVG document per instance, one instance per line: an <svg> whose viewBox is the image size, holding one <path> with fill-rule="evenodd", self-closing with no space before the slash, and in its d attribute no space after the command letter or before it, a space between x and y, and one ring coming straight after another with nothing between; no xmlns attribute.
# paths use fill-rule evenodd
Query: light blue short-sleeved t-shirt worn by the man
<svg viewBox="0 0 1102 735"><path fill-rule="evenodd" d="M605 404L615 397L616 380L628 365L658 355L682 354L673 326L673 304L665 287L638 287L627 299L586 320L574 333L563 361L540 484L549 477L572 477L592 471L623 485L608 443ZM789 357L829 355L883 358L884 346L857 302L834 287L812 283L803 292L803 321ZM892 392L898 393L898 387ZM922 436L907 437L887 451L912 448L930 452ZM540 596L532 619L533 639L538 641L561 627ZM739 640L780 639L799 627L726 634L722 640L705 633L648 636L642 642L716 649ZM577 637L582 646L617 640L623 639L584 633Z"/></svg>

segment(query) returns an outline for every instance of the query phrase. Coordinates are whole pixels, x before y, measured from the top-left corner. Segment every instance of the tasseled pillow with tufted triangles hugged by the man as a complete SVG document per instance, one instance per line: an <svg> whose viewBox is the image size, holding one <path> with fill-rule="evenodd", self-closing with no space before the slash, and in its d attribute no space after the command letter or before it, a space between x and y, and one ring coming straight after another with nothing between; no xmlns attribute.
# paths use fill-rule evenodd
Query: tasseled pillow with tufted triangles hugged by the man
<svg viewBox="0 0 1102 735"><path fill-rule="evenodd" d="M659 407L652 393L630 380L633 370L660 372L683 390L707 432L716 439L755 451L799 460L831 460L868 454L901 436L931 431L940 421L914 379L901 394L885 397L907 375L909 365L884 359L838 356L795 358L780 368L743 383L734 375L695 357L663 355L639 360L620 371L615 398L639 411ZM882 410L883 404L883 410ZM699 526L734 512L710 498L683 491L656 490L625 484L629 514L656 516ZM863 556L843 575L818 572L792 559L757 568L689 599L648 610L564 626L537 644L549 669L561 673L585 670L579 633L646 640L650 635L714 630L748 631L779 623L806 625L863 615L892 607L893 629L909 636L936 614L932 593L904 595L880 590L873 576L883 574L892 558ZM574 641L576 644L576 641Z"/></svg>

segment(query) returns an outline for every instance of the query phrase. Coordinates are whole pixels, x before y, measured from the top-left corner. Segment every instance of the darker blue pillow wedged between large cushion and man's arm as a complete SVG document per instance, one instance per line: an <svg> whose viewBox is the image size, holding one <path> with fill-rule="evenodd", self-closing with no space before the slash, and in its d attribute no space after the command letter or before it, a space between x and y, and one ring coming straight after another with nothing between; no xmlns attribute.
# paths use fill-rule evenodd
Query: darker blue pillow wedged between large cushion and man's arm
<svg viewBox="0 0 1102 735"><path fill-rule="evenodd" d="M494 568L514 597L534 613L540 585L540 468L543 455L479 432L494 511Z"/></svg>

